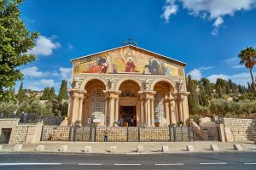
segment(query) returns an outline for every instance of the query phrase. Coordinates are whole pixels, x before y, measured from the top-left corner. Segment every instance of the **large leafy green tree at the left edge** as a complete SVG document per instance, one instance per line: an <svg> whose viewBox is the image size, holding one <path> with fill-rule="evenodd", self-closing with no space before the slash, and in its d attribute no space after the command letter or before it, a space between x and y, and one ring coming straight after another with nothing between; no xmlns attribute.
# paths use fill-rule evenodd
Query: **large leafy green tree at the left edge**
<svg viewBox="0 0 256 170"><path fill-rule="evenodd" d="M27 54L35 46L38 32L26 30L20 19L19 6L23 0L0 1L0 100L14 99L5 88L13 88L15 82L22 79L18 69L35 59L33 54Z"/></svg>

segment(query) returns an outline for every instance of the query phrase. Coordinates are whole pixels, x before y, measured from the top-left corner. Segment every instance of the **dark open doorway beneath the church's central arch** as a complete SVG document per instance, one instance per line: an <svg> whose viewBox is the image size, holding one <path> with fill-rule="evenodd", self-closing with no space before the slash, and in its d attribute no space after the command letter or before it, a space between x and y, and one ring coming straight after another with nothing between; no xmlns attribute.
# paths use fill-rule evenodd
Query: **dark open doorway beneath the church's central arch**
<svg viewBox="0 0 256 170"><path fill-rule="evenodd" d="M136 127L136 106L120 106L120 117L124 120L125 124L129 127Z"/></svg>

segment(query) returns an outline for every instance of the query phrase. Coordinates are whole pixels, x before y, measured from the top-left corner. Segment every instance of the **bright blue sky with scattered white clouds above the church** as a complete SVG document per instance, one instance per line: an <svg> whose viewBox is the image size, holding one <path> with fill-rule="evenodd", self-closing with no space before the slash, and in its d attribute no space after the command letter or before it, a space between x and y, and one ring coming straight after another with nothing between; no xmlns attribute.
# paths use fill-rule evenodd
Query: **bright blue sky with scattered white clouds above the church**
<svg viewBox="0 0 256 170"><path fill-rule="evenodd" d="M237 54L256 48L255 9L256 0L26 0L21 18L40 37L30 51L37 59L20 67L24 88L58 91L61 79L70 81L70 59L117 48L128 37L187 63L195 79L247 85Z"/></svg>

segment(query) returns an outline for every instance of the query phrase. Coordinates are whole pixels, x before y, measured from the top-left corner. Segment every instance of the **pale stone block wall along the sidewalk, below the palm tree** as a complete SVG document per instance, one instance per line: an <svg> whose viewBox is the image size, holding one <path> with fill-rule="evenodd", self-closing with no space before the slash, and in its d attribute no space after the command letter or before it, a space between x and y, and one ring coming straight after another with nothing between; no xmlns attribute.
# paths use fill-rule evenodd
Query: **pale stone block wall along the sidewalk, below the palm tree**
<svg viewBox="0 0 256 170"><path fill-rule="evenodd" d="M225 137L230 141L248 141L256 136L256 119L224 118Z"/></svg>

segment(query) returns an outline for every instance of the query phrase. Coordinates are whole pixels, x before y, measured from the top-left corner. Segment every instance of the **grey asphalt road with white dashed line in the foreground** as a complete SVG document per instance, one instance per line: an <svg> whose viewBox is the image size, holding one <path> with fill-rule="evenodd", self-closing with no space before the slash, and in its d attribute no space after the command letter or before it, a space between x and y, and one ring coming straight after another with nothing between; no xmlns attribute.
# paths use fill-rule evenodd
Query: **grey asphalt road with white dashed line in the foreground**
<svg viewBox="0 0 256 170"><path fill-rule="evenodd" d="M256 169L256 152L154 155L0 154L0 169Z"/></svg>

